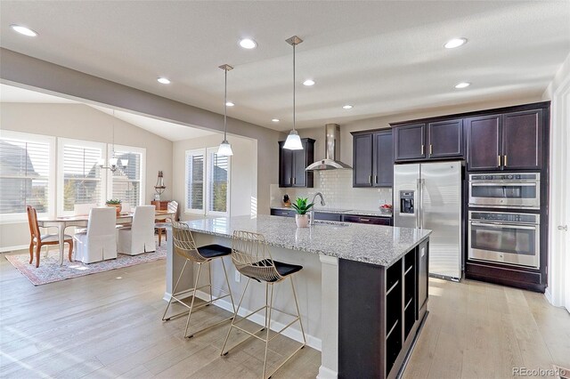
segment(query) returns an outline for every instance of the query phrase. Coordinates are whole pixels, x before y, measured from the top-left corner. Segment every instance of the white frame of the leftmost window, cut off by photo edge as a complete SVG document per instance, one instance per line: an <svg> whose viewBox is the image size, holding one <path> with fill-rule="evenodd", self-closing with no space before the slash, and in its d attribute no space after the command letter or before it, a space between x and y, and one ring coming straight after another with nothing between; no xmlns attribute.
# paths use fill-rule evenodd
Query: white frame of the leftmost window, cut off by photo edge
<svg viewBox="0 0 570 379"><path fill-rule="evenodd" d="M49 146L49 173L47 176L47 191L48 191L48 204L46 213L37 214L40 217L46 216L53 216L55 213L55 201L56 201L56 190L55 190L55 168L56 168L56 139L55 137L43 135L43 134L34 134L34 133L22 133L22 132L13 132L11 130L0 129L0 138L5 139L12 139L16 141L22 142L36 142L36 143L47 143ZM28 214L24 211L23 213L19 214L0 214L0 223L12 223L12 222L25 222L28 220Z"/></svg>

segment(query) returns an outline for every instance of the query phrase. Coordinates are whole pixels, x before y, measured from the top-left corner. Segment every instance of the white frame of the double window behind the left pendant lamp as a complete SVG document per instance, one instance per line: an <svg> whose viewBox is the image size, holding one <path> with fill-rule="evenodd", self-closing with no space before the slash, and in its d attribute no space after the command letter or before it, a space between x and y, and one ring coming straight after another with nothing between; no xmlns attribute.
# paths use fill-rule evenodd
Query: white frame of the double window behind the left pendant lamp
<svg viewBox="0 0 570 379"><path fill-rule="evenodd" d="M202 148L202 149L191 149L186 150L184 154L184 213L185 214L199 214L206 216L228 216L230 215L230 199L232 193L232 157L228 157L228 188L226 191L226 211L216 212L208 211L208 204L210 200L210 184L208 181L208 176L210 172L210 155L217 152L217 147ZM188 204L188 157L194 155L204 156L204 170L202 172L202 209L189 208Z"/></svg>

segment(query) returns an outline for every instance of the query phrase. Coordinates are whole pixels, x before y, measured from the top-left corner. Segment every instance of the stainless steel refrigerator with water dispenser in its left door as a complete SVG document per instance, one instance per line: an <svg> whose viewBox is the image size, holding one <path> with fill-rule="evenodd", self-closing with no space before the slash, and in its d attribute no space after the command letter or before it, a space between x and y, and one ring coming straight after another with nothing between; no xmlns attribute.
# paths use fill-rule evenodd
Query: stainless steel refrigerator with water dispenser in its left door
<svg viewBox="0 0 570 379"><path fill-rule="evenodd" d="M429 274L461 278L461 162L394 166L394 225L433 230Z"/></svg>

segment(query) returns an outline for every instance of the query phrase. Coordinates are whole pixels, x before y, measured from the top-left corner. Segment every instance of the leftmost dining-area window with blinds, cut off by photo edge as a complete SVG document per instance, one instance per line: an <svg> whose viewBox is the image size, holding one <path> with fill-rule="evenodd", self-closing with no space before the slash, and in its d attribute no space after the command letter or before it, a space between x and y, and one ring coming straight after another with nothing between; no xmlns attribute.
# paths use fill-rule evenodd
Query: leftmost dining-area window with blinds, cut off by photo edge
<svg viewBox="0 0 570 379"><path fill-rule="evenodd" d="M26 217L26 206L38 214L53 207L55 139L29 133L0 134L0 214L3 220Z"/></svg>

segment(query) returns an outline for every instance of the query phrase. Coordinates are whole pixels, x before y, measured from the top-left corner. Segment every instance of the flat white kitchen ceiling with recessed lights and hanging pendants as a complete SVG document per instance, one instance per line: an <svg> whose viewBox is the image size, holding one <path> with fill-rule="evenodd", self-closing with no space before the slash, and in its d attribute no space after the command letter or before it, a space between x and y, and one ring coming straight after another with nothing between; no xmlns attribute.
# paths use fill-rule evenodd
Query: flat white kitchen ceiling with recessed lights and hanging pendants
<svg viewBox="0 0 570 379"><path fill-rule="evenodd" d="M540 96L570 52L568 1L0 3L2 47L278 130ZM14 33L12 23L39 33ZM238 46L244 36L258 47ZM453 50L443 44L465 36ZM160 85L164 76L171 85ZM316 85L300 85L313 78ZM456 90L460 81L471 82ZM354 104L354 109L342 105ZM271 122L273 117L281 123Z"/></svg>

